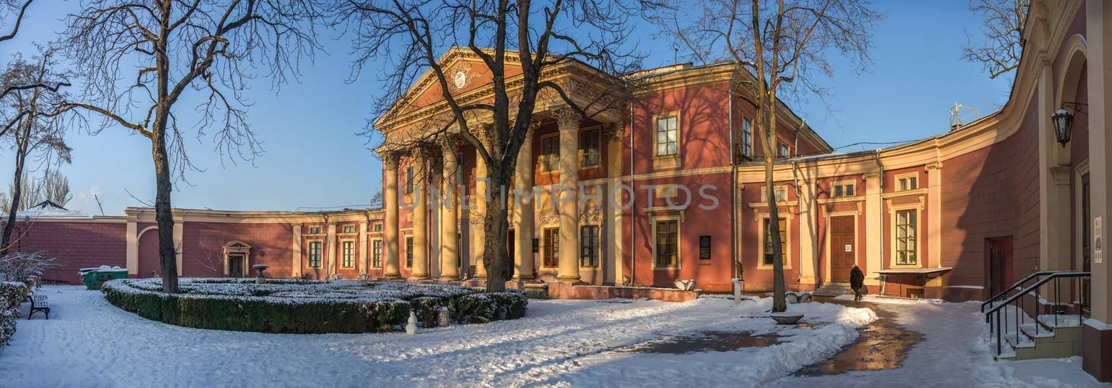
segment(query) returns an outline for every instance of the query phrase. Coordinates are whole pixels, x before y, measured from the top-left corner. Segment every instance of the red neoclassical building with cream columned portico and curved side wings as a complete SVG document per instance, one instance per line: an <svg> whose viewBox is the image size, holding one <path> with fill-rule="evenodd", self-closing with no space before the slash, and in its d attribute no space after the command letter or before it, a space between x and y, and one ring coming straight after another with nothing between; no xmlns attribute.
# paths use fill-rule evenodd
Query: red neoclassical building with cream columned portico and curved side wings
<svg viewBox="0 0 1112 388"><path fill-rule="evenodd" d="M1085 370L1110 380L1112 267L1101 241L1112 209L1112 6L1032 1L1023 37L1003 108L920 141L835 152L821 129L781 106L772 188L754 107L732 87L747 76L732 63L631 76L647 87L589 120L543 99L513 189L572 187L576 200L507 199L515 283L629 290L694 279L704 291L728 291L738 278L748 291L770 290L767 230L777 222L790 289L836 290L856 266L872 294L961 301L1007 291L990 308L1030 300L1032 315L1083 315L1086 345L1074 351L1083 350ZM440 64L457 98L489 96L489 72L469 50L451 49ZM602 92L598 80L608 76L566 62L548 77L579 101ZM475 198L495 190L477 179L486 169L467 142L421 135L446 109L438 88L426 76L376 121L386 138L376 150L383 209L178 209L181 273L250 276L250 265L267 263L275 277L480 282L486 210ZM434 189L464 200L419 200ZM159 270L152 221L141 208L37 217L20 221L19 243L63 259L48 279L76 281L77 268L101 263L145 277ZM1065 291L1036 285L1051 278L1063 278Z"/></svg>

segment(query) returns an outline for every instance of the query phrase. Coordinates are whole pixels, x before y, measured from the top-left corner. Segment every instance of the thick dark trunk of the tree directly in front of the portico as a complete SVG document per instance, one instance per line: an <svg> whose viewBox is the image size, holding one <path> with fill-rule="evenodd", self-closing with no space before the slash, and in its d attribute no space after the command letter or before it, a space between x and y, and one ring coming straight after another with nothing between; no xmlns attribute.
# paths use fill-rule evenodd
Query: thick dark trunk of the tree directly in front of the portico
<svg viewBox="0 0 1112 388"><path fill-rule="evenodd" d="M506 240L509 237L509 222L506 220L506 205L503 196L508 192L508 169L500 166L488 167L489 183L487 185L487 212L483 217L486 239L483 241L483 266L487 269L487 292L506 290L506 281L514 276L509 263ZM483 200L481 198L479 200Z"/></svg>

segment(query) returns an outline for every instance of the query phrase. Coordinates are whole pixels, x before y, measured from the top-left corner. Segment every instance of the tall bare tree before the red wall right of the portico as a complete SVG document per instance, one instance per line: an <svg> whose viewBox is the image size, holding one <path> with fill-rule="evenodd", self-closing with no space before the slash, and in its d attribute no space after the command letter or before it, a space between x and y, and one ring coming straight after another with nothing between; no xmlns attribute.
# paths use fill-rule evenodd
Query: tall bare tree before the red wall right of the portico
<svg viewBox="0 0 1112 388"><path fill-rule="evenodd" d="M681 4L661 17L676 41L704 61L736 64L733 88L757 108L754 127L762 140L768 232L773 247L773 311L786 309L784 252L773 187L776 118L783 97L816 96L828 90L818 76L832 77L830 57L870 64L872 27L882 14L866 0L709 0Z"/></svg>

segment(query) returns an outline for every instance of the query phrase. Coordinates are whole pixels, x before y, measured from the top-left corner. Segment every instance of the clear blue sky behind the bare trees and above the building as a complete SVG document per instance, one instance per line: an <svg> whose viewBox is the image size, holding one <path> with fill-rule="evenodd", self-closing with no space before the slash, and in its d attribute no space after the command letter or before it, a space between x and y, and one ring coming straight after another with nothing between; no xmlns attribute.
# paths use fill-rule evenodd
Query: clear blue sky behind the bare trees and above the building
<svg viewBox="0 0 1112 388"><path fill-rule="evenodd" d="M886 19L874 31L871 71L857 74L843 66L836 69L834 79L824 80L835 91L828 99L831 111L817 101L795 107L832 146L904 141L942 133L947 130L947 110L954 102L980 108L983 116L1006 101L1010 79L991 80L980 66L960 58L965 31L975 39L980 26L980 17L966 10L966 1L877 1L875 7ZM32 42L53 39L63 27L59 19L72 8L72 1L36 2L19 37L0 44L0 59L7 61L18 51L30 54ZM654 52L646 66L672 63L673 50L653 30L645 23L636 26L637 47ZM208 139L187 137L190 157L203 171L190 171L186 176L189 183L177 183L175 207L358 207L380 190L379 161L368 151L367 139L356 135L373 119L370 102L379 83L376 69L365 70L355 82L345 82L349 41L322 32L327 52L301 67L299 81L274 90L269 80L258 79L247 92L255 101L249 122L266 150L254 166L221 165ZM190 105L179 103L178 112L186 122L192 122ZM121 215L125 207L142 206L127 191L152 202L155 172L147 139L112 127L95 137L75 131L68 141L73 148L73 163L61 171L75 193L70 209L100 213L95 193L106 215ZM11 153L8 148L0 149L0 187L4 189L11 181Z"/></svg>

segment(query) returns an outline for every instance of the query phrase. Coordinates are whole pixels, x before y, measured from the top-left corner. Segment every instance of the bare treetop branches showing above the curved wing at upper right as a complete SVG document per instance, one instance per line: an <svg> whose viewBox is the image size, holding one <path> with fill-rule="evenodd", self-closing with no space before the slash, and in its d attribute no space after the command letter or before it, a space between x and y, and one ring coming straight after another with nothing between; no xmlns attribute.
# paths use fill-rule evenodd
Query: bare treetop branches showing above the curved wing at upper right
<svg viewBox="0 0 1112 388"><path fill-rule="evenodd" d="M974 0L970 10L981 13L984 41L973 39L962 47L962 59L977 63L996 78L1020 67L1023 54L1023 26L1027 21L1031 0ZM967 33L966 33L967 34Z"/></svg>

